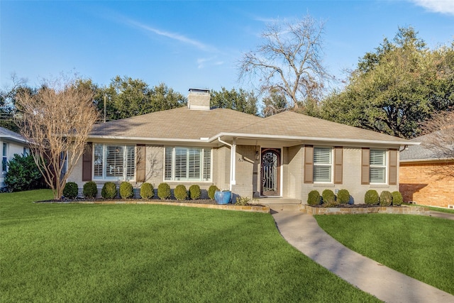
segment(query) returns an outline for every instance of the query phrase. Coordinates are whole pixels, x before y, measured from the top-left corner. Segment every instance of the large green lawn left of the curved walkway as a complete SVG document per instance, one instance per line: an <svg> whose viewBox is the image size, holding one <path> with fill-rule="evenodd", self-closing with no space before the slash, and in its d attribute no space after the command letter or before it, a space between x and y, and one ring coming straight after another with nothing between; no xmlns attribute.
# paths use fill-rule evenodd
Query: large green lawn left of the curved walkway
<svg viewBox="0 0 454 303"><path fill-rule="evenodd" d="M279 235L270 214L33 204L0 194L1 302L378 302Z"/></svg>

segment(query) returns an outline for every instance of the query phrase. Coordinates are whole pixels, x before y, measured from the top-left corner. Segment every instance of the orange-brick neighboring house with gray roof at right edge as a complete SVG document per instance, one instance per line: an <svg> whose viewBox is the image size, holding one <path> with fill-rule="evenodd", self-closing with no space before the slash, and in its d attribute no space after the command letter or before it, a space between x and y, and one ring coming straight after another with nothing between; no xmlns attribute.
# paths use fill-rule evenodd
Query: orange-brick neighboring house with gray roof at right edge
<svg viewBox="0 0 454 303"><path fill-rule="evenodd" d="M442 167L453 167L454 159L439 159L424 142L432 134L414 138L421 145L413 145L401 153L400 192L404 202L454 209L454 177L443 176Z"/></svg>

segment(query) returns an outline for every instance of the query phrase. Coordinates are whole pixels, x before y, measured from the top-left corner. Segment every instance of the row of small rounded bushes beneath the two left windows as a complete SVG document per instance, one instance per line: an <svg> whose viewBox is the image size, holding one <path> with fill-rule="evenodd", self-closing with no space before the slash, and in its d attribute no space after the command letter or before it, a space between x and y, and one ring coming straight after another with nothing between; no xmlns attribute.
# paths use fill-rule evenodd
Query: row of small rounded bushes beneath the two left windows
<svg viewBox="0 0 454 303"><path fill-rule="evenodd" d="M208 196L210 199L214 199L214 192L218 190L216 185L211 185L208 189ZM69 199L74 199L79 194L79 188L77 183L75 182L67 182L65 189L63 189L63 195ZM86 198L94 199L98 194L98 187L96 186L96 182L90 181L84 184L83 194ZM115 199L117 194L120 194L122 199L130 199L134 197L134 190L133 185L129 182L121 182L119 191L117 192L117 187L114 182L106 182L104 183L101 189L101 197L104 199ZM150 183L143 183L140 187L140 197L142 199L153 199L155 196L155 189L153 185ZM174 196L177 200L186 200L186 199L200 199L201 197L201 189L199 185L191 185L189 187L189 191L183 184L177 185L174 189ZM170 185L167 183L161 183L157 187L157 197L160 199L170 199L171 197L171 190Z"/></svg>

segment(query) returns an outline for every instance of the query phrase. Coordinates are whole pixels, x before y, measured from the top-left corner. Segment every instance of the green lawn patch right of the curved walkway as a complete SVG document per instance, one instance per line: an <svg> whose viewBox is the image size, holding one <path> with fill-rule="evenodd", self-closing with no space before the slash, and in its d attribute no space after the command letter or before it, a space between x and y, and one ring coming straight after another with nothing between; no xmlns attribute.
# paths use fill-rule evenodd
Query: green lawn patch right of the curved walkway
<svg viewBox="0 0 454 303"><path fill-rule="evenodd" d="M429 216L315 216L348 248L454 294L454 221Z"/></svg>

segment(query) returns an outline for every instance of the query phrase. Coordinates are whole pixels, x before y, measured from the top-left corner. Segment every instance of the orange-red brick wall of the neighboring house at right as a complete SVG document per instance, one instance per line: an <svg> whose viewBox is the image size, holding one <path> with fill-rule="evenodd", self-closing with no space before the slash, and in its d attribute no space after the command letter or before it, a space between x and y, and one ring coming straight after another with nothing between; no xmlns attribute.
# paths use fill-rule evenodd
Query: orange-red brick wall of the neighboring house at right
<svg viewBox="0 0 454 303"><path fill-rule="evenodd" d="M454 177L441 177L434 173L437 167L449 163L400 163L400 192L404 202L448 207L454 204Z"/></svg>

